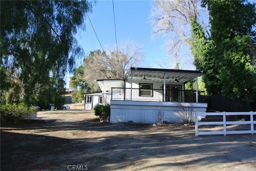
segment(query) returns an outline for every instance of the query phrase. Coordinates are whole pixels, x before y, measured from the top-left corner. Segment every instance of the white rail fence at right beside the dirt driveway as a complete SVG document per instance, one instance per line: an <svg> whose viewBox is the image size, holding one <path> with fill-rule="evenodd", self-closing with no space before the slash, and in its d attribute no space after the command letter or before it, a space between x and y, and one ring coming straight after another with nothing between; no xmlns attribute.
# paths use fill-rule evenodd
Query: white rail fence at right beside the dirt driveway
<svg viewBox="0 0 256 171"><path fill-rule="evenodd" d="M198 116L223 116L222 122L198 122ZM227 115L250 115L250 121L227 121L226 122L226 116ZM254 134L256 133L256 130L254 130L254 124L256 124L256 121L253 120L253 115L256 115L256 112L213 112L213 113L206 113L206 112L198 112L196 113L196 136L200 135L217 135L217 134L223 134L226 136L227 134ZM250 124L250 130L236 130L236 131L227 131L226 126L227 125L234 125L234 124ZM223 125L223 131L212 131L212 132L199 132L198 126L201 125Z"/></svg>

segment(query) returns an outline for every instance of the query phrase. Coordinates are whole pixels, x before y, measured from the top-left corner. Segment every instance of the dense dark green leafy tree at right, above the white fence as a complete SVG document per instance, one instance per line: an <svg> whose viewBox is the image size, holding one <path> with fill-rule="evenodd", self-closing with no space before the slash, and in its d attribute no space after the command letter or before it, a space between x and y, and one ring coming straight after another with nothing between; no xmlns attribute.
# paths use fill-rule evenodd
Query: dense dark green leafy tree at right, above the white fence
<svg viewBox="0 0 256 171"><path fill-rule="evenodd" d="M246 1L203 1L210 14L211 35L192 20L191 49L196 68L211 94L256 100L256 8Z"/></svg>

